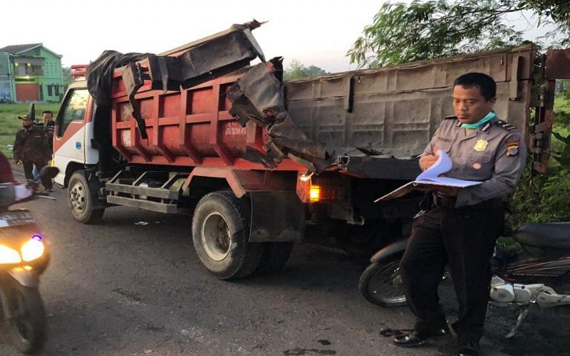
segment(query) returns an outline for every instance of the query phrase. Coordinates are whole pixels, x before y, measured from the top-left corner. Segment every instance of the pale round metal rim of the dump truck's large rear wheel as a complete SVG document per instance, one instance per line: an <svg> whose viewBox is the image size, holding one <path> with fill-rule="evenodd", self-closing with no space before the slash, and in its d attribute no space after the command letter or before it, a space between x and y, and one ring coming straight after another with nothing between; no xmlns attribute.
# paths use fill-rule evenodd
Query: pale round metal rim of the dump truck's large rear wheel
<svg viewBox="0 0 570 356"><path fill-rule="evenodd" d="M229 254L232 246L232 234L229 225L222 214L210 212L202 224L202 246L209 258L222 261Z"/></svg>

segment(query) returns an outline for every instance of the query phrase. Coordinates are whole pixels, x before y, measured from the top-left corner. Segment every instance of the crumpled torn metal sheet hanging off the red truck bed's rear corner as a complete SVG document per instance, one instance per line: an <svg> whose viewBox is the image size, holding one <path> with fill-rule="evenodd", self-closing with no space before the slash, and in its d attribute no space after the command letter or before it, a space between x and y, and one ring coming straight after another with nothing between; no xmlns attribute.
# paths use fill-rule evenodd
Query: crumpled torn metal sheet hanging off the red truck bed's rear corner
<svg viewBox="0 0 570 356"><path fill-rule="evenodd" d="M328 153L321 145L312 142L291 121L285 109L281 73L283 58L259 63L237 80L227 93L232 103L229 113L240 125L249 120L265 127L269 135L264 149L266 154L248 152L244 158L254 157L256 162L268 159L279 163L286 156L314 172L323 172L330 166ZM267 167L270 167L266 164Z"/></svg>

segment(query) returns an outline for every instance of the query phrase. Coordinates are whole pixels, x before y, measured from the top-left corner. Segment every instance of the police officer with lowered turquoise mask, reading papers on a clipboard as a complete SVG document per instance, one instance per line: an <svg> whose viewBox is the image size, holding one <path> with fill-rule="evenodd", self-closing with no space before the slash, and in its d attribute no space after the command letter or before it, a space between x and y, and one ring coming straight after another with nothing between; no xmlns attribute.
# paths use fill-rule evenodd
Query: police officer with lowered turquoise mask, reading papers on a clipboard
<svg viewBox="0 0 570 356"><path fill-rule="evenodd" d="M489 259L503 231L502 197L514 191L524 169L526 149L517 129L492 110L497 85L483 73L461 75L453 83L455 116L446 117L422 157L425 170L445 150L453 162L446 177L476 180L466 188L438 188L428 194L430 209L415 218L400 263L413 333L395 337L399 346L417 346L449 335L437 286L448 263L459 301L452 324L459 355L478 355L489 298Z"/></svg>

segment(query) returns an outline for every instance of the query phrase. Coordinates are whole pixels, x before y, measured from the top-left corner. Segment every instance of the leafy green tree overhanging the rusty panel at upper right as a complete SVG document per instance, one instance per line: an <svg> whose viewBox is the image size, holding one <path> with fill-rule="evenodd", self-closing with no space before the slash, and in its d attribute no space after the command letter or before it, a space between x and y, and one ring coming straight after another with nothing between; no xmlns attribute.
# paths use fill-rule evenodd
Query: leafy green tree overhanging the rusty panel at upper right
<svg viewBox="0 0 570 356"><path fill-rule="evenodd" d="M539 26L554 24L546 38L570 44L570 1L415 0L383 4L347 55L359 68L373 68L517 45L522 31L505 16L525 10Z"/></svg>

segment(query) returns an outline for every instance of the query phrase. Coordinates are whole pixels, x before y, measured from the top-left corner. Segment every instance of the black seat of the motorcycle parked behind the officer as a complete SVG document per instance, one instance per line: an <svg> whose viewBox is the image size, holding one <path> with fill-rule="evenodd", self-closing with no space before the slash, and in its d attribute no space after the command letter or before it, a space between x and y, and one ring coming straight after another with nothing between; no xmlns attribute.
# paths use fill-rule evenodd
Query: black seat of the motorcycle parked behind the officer
<svg viewBox="0 0 570 356"><path fill-rule="evenodd" d="M514 239L523 245L570 248L570 222L524 224L514 231Z"/></svg>

